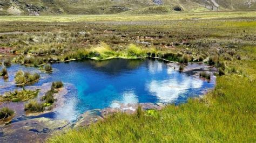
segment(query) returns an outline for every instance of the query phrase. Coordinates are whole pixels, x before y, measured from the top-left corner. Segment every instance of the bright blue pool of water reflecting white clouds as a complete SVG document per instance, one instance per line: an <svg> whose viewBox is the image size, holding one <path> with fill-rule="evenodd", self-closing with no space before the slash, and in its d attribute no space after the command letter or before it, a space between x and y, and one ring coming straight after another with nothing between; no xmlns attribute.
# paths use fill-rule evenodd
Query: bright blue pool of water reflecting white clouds
<svg viewBox="0 0 256 143"><path fill-rule="evenodd" d="M152 59L82 60L55 63L52 67L53 73L41 72L41 80L34 85L52 81L71 85L64 107L45 115L56 119L75 120L87 110L115 107L118 103L184 103L215 84L214 80L207 82L179 73L168 63ZM12 84L18 69L40 72L20 65L8 67L9 81L0 80L0 94L17 88Z"/></svg>

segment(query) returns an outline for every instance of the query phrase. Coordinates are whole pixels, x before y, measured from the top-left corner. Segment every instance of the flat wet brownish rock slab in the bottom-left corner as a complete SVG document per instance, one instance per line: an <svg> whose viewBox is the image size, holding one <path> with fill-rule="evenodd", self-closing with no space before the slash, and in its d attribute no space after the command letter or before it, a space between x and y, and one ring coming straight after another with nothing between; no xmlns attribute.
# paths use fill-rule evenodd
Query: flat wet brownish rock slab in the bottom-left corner
<svg viewBox="0 0 256 143"><path fill-rule="evenodd" d="M45 142L53 132L62 131L69 121L36 118L0 127L0 142Z"/></svg>

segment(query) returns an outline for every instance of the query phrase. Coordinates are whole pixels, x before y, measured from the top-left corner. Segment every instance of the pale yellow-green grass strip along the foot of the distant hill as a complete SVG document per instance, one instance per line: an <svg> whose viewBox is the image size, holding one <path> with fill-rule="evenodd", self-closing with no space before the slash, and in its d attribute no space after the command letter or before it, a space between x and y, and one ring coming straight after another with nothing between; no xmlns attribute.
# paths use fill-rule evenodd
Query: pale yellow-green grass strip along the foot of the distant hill
<svg viewBox="0 0 256 143"><path fill-rule="evenodd" d="M227 11L200 13L172 13L151 15L61 15L61 16L0 16L0 22L132 22L145 20L186 20L186 19L226 19L226 18L254 18L255 11ZM235 26L235 25L234 25Z"/></svg>

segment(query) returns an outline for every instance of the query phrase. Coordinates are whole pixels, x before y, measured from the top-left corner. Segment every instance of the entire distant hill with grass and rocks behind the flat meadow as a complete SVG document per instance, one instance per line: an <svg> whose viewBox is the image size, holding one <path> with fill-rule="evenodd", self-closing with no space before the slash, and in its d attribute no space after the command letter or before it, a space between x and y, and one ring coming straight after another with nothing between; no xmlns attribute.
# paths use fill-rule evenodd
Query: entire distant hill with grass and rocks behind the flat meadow
<svg viewBox="0 0 256 143"><path fill-rule="evenodd" d="M149 14L256 10L256 0L1 0L0 15Z"/></svg>

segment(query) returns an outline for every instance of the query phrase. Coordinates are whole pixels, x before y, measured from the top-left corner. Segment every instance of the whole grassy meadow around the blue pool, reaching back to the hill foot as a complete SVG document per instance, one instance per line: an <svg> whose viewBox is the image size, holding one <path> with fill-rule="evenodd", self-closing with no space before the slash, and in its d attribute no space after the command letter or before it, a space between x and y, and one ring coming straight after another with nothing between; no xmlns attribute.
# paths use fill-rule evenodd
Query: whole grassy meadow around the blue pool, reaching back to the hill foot
<svg viewBox="0 0 256 143"><path fill-rule="evenodd" d="M256 12L0 17L1 59L42 67L82 58L159 57L217 67L203 98L117 113L49 142L255 142ZM35 62L36 61L36 62Z"/></svg>

